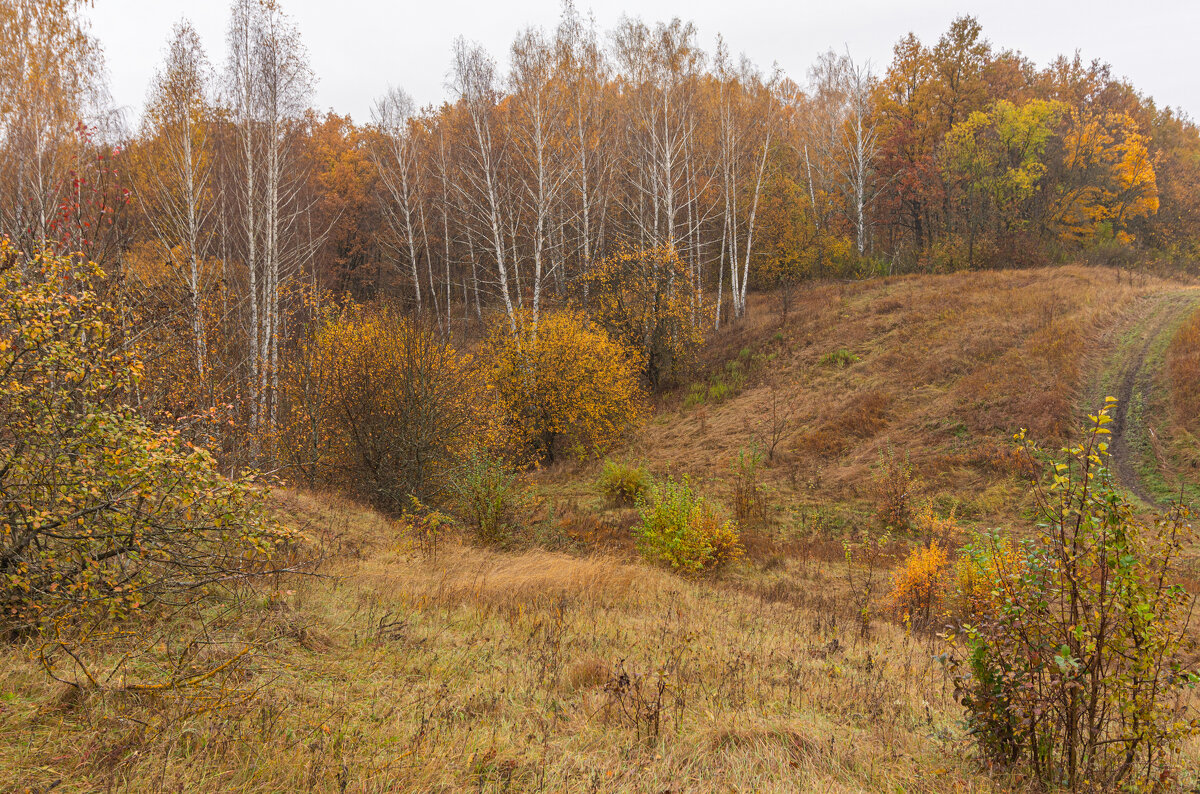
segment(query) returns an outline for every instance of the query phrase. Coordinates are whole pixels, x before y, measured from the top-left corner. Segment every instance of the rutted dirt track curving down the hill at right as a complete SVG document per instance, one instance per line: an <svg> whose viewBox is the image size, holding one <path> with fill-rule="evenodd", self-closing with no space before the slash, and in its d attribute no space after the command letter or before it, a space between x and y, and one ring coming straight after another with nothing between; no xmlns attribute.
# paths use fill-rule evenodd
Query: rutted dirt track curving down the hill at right
<svg viewBox="0 0 1200 794"><path fill-rule="evenodd" d="M1150 506L1158 506L1158 499L1138 474L1134 446L1147 429L1134 421L1133 410L1146 405L1154 386L1159 362L1152 360L1151 348L1195 308L1196 300L1196 293L1190 290L1147 297L1133 320L1118 331L1116 350L1105 367L1108 383L1099 384L1117 398L1110 445L1117 482Z"/></svg>

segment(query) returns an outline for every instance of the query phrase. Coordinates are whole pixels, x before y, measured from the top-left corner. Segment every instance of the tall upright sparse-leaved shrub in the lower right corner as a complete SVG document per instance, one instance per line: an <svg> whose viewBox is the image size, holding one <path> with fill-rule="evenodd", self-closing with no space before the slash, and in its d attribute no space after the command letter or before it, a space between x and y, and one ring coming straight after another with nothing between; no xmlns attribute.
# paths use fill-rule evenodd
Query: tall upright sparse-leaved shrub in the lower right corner
<svg viewBox="0 0 1200 794"><path fill-rule="evenodd" d="M952 664L985 754L1072 790L1159 790L1200 733L1184 711L1194 600L1176 584L1194 533L1186 507L1147 521L1112 482L1111 402L1043 458L1032 537L965 549L990 582Z"/></svg>

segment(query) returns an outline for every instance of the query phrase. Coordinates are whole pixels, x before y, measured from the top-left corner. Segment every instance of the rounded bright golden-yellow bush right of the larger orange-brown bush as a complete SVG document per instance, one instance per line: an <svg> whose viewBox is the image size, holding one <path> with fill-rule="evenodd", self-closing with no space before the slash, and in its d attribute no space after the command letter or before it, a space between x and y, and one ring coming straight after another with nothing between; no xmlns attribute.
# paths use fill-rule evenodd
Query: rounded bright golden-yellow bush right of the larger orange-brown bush
<svg viewBox="0 0 1200 794"><path fill-rule="evenodd" d="M553 461L602 452L642 414L635 357L583 314L528 313L497 323L487 338L491 385L515 438Z"/></svg>

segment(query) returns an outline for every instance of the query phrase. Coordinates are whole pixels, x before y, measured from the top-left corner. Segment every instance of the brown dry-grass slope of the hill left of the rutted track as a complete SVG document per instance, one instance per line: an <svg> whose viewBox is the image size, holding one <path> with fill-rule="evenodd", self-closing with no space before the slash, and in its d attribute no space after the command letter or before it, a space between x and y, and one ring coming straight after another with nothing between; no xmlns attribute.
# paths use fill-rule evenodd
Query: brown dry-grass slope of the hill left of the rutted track
<svg viewBox="0 0 1200 794"><path fill-rule="evenodd" d="M1097 267L830 283L798 295L782 326L761 297L754 325L710 353L715 361L756 349L762 363L742 392L650 422L630 455L724 479L779 390L793 421L764 471L778 504L869 510L866 483L890 446L966 517L1008 519L1020 474L1012 434L1063 439L1105 335L1168 289L1178 285ZM839 350L857 360L822 363Z"/></svg>

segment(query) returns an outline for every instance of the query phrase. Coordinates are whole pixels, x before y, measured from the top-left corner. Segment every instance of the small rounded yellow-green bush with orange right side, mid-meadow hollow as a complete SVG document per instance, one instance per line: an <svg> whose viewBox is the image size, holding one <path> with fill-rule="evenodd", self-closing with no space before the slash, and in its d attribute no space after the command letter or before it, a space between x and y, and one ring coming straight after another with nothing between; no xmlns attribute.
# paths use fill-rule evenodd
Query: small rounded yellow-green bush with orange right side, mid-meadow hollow
<svg viewBox="0 0 1200 794"><path fill-rule="evenodd" d="M642 555L685 573L720 567L742 554L737 523L700 495L688 477L654 485L634 527Z"/></svg>

